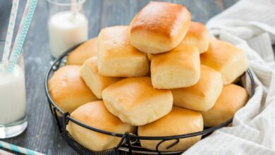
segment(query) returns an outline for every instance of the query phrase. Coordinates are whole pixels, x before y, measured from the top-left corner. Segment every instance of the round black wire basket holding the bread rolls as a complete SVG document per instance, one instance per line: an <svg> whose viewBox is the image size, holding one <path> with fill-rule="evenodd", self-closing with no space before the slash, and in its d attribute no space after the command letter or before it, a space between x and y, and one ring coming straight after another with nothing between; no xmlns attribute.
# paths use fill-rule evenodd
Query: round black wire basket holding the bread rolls
<svg viewBox="0 0 275 155"><path fill-rule="evenodd" d="M59 109L58 106L54 103L54 101L51 99L51 95L49 94L48 89L48 81L49 78L53 75L53 73L58 70L61 66L65 66L66 59L68 57L68 54L71 53L75 48L77 48L80 44L73 46L73 48L68 49L65 53L63 53L59 58L57 58L54 63L51 65L49 70L47 71L47 75L45 77L44 81L44 88L46 91L48 103L49 103L49 109L51 110L52 115L54 116L54 120L56 120L56 123L59 128L59 132L61 133L63 139L68 143L70 147L75 149L79 154L181 154L183 151L159 151L159 146L166 142L166 141L173 141L173 143L167 147L166 149L169 149L180 141L182 138L188 138L188 137L194 137L197 135L202 135L202 138L207 137L210 135L214 130L217 130L219 128L223 128L228 126L232 123L233 118L226 120L224 123L221 123L220 125L217 125L212 128L204 128L204 130L200 132L193 132L185 135L173 135L173 136L164 136L164 137L147 137L147 136L138 136L134 133L115 133L115 132L109 132L105 130L100 130L97 128L93 128L91 126L85 125L83 123L80 123L78 120L75 120L70 116L70 113L66 111L62 111ZM247 89L249 92L250 98L255 93L255 82L253 79L253 75L251 73L251 70L248 68L247 71L241 76L240 82L238 82L238 85L242 85ZM121 137L120 142L118 145L112 149L104 150L104 151L92 151L89 149L86 149L85 147L82 147L81 144L76 142L73 137L70 135L70 133L66 130L66 125L68 125L68 122L71 121L73 123L76 123L83 128L87 128L89 130L93 130L95 132L100 132L105 135L115 136L115 137ZM160 142L157 144L155 151L142 148L140 146L140 140L159 140Z"/></svg>

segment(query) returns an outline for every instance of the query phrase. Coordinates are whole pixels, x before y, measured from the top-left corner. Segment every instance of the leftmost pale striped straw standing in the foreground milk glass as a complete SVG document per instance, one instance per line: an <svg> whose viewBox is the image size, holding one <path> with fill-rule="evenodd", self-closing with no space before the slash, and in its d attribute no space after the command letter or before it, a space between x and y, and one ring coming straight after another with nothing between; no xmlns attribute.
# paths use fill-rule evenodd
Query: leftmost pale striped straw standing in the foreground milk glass
<svg viewBox="0 0 275 155"><path fill-rule="evenodd" d="M8 32L6 34L6 42L4 47L4 54L2 56L2 62L8 61L8 56L11 51L11 42L13 40L13 29L16 25L16 15L18 11L19 1L13 0L13 6L11 7L11 16L10 20L8 21Z"/></svg>

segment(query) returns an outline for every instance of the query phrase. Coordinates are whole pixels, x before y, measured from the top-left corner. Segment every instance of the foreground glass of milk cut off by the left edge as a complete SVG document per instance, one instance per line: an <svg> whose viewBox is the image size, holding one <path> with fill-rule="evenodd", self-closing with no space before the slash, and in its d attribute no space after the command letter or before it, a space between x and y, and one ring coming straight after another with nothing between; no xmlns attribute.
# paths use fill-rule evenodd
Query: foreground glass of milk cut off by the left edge
<svg viewBox="0 0 275 155"><path fill-rule="evenodd" d="M0 58L3 49L0 42ZM0 61L0 139L15 137L27 128L23 54L13 73L7 72L5 64Z"/></svg>

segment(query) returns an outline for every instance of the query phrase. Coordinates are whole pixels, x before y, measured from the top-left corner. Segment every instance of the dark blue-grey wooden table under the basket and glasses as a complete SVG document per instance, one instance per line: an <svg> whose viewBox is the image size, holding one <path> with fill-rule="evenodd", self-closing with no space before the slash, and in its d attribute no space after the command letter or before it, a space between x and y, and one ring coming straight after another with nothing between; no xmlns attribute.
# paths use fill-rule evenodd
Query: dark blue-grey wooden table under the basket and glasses
<svg viewBox="0 0 275 155"><path fill-rule="evenodd" d="M148 1L89 0L89 36L97 36L103 27L128 25L135 13ZM202 23L206 23L209 18L236 1L238 0L171 0L173 3L185 5L192 13L192 20ZM25 0L20 3L19 16L22 15ZM8 22L4 16L11 9L11 1L1 1L0 8L0 39L4 39L4 24ZM4 141L44 154L76 154L59 135L44 93L44 75L52 61L47 32L47 1L39 1L24 44L24 52L28 126L23 134Z"/></svg>

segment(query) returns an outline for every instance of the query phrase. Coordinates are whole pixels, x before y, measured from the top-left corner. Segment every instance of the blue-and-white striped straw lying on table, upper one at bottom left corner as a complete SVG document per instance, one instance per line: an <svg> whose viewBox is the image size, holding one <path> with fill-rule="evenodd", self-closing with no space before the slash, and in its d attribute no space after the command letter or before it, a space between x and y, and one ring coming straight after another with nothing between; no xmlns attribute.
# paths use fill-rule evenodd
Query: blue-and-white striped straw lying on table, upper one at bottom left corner
<svg viewBox="0 0 275 155"><path fill-rule="evenodd" d="M27 155L45 155L45 154L42 154L42 153L39 153L37 151L32 151L30 149L25 149L23 147L18 147L14 144L9 144L7 142L2 142L0 141L0 148L5 148L5 149L8 149L8 150L11 150L11 151L15 151L17 153L20 153L20 154L27 154Z"/></svg>

